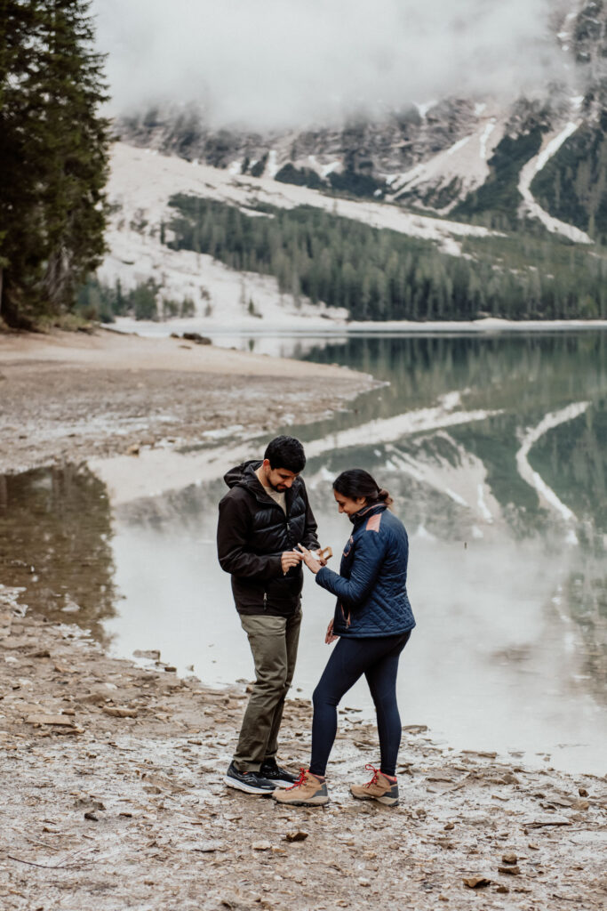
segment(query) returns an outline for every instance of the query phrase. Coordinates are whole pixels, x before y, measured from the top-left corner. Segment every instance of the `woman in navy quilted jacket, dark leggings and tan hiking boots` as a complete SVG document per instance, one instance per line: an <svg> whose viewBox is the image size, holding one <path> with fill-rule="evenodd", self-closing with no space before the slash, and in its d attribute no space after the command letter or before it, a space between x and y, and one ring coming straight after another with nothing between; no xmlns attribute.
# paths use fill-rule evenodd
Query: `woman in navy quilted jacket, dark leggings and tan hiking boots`
<svg viewBox="0 0 607 911"><path fill-rule="evenodd" d="M375 703L379 732L379 769L367 766L373 777L353 784L350 791L363 800L392 806L399 802L396 760L400 746L396 675L400 652L415 626L407 597L409 542L400 519L388 509L388 491L379 489L369 472L352 468L333 482L339 512L354 530L341 558L339 574L320 565L306 548L306 566L323 589L337 596L335 616L325 641L339 638L312 696L312 758L298 783L274 792L280 804L327 804L325 771L337 732L337 707L342 696L364 674Z"/></svg>

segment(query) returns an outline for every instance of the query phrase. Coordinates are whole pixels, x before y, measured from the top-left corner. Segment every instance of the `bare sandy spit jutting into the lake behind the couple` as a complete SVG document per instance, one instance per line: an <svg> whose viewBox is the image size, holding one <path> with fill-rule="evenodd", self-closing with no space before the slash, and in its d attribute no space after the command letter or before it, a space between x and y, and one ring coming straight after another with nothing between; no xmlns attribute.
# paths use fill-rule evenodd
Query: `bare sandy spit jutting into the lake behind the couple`
<svg viewBox="0 0 607 911"><path fill-rule="evenodd" d="M180 339L0 334L0 473L309 423L374 384Z"/></svg>

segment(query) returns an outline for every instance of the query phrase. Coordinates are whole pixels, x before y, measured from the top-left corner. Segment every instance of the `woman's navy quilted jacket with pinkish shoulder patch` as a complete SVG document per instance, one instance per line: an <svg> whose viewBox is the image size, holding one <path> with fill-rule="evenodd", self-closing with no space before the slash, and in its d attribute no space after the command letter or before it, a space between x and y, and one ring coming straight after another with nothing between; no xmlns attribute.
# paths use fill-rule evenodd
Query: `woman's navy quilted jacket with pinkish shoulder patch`
<svg viewBox="0 0 607 911"><path fill-rule="evenodd" d="M409 540L399 518L384 503L364 507L341 557L339 575L316 574L337 596L333 631L338 636L394 636L415 626L407 595Z"/></svg>

